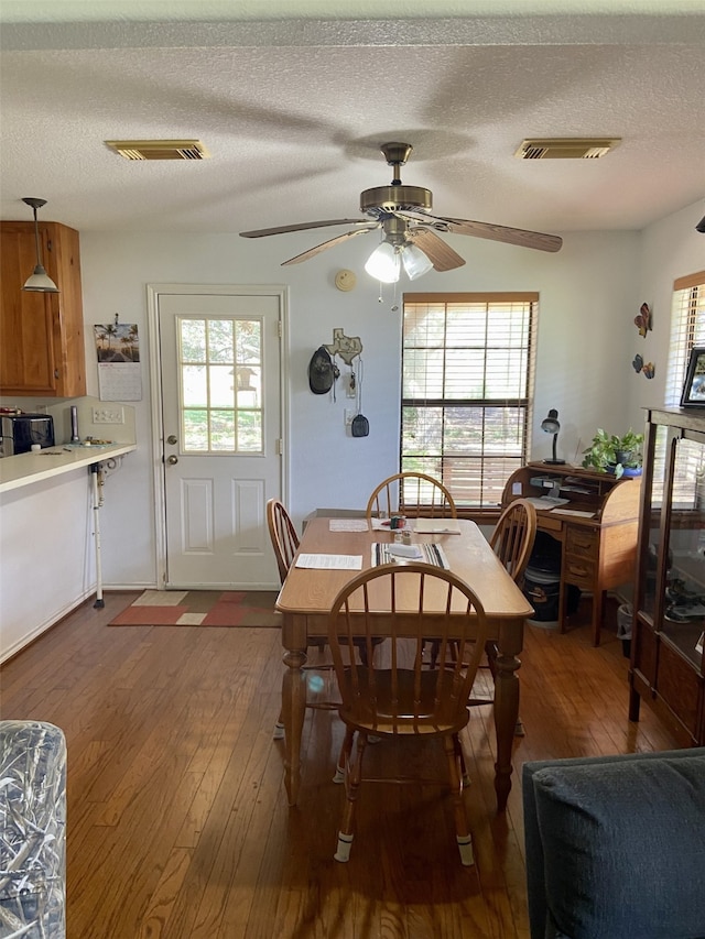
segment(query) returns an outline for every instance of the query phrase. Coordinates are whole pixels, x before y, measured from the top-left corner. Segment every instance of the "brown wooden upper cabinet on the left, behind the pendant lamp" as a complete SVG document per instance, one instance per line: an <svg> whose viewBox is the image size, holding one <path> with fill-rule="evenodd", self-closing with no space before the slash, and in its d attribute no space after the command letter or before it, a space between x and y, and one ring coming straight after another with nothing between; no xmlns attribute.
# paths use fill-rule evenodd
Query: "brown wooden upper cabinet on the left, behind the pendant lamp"
<svg viewBox="0 0 705 939"><path fill-rule="evenodd" d="M25 292L36 264L33 221L0 222L0 393L86 394L78 232L40 222L42 261L58 294Z"/></svg>

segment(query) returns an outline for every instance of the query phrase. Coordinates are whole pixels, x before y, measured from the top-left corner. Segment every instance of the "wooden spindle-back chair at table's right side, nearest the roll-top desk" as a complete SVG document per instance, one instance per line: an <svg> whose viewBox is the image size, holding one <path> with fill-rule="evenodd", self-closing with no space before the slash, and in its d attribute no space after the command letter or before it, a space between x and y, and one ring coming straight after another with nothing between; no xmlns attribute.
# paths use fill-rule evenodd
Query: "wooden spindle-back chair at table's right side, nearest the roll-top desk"
<svg viewBox="0 0 705 939"><path fill-rule="evenodd" d="M502 511L489 539L492 550L519 587L523 586L524 572L536 539L536 529L538 516L534 506L525 499L516 499ZM494 681L497 675L497 643L488 642L485 652L487 667L490 669ZM491 705L494 697L470 697L468 703L470 707ZM521 720L517 720L514 733L523 736L524 729Z"/></svg>

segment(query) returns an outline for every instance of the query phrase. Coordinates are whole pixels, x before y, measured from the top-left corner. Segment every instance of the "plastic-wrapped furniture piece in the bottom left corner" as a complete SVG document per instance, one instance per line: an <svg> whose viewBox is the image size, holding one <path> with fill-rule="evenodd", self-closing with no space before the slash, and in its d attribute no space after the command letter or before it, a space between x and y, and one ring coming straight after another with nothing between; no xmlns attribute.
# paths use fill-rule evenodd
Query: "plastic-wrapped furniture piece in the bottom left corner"
<svg viewBox="0 0 705 939"><path fill-rule="evenodd" d="M66 936L66 741L0 721L0 939Z"/></svg>

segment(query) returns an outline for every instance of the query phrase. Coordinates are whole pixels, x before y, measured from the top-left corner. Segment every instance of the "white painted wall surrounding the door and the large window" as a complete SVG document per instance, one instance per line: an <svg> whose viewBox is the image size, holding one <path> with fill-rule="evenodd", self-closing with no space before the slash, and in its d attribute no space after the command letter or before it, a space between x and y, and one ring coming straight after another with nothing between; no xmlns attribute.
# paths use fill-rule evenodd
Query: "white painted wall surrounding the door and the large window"
<svg viewBox="0 0 705 939"><path fill-rule="evenodd" d="M413 285L403 281L400 286L440 293L538 291L532 454L534 459L549 455L551 438L539 424L550 407L556 407L562 423L558 451L568 461L579 462L579 450L598 426L610 433L621 433L630 424L640 426L647 392L658 389L659 400L662 396L659 363L668 347L671 285L674 276L702 266L697 258L705 253L705 238L693 231L702 215L702 207L691 207L643 233L566 233L557 254L449 236L467 264L445 274L432 272ZM153 585L156 577L153 468L161 454L151 443L148 283L289 285L288 460L290 505L297 522L317 506L364 505L379 479L397 469L401 317L392 309L393 290L386 287L383 303L378 302L378 285L362 270L372 247L365 238L301 265L280 266L283 259L313 243L315 234L312 238L310 232L258 240L82 233L88 393L97 394L96 368L90 364L94 324L111 321L117 313L120 321L139 324L142 343L144 396L135 408L138 450L108 480L101 510L107 588ZM335 288L340 267L357 274L350 293ZM646 342L633 326L643 299L654 309L654 331ZM308 390L308 360L317 346L332 341L335 327L359 336L364 345L362 411L370 422L369 437L347 436L344 412L349 402L343 393L333 402ZM641 350L644 359L657 361L653 382L637 376L631 368L634 353ZM26 554L29 543L20 537L17 550Z"/></svg>

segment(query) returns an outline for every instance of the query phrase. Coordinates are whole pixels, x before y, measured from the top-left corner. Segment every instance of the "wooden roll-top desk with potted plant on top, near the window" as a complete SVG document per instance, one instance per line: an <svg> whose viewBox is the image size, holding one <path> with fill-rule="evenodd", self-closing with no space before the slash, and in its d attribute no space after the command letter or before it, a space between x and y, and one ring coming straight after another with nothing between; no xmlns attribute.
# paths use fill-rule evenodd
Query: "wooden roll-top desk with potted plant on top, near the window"
<svg viewBox="0 0 705 939"><path fill-rule="evenodd" d="M539 531L561 543L560 629L565 632L566 586L574 583L593 593L593 643L599 645L607 591L634 579L641 478L615 479L583 467L528 463L510 476L502 505L520 496L546 495L552 482L568 502L558 512L539 509L538 516Z"/></svg>

